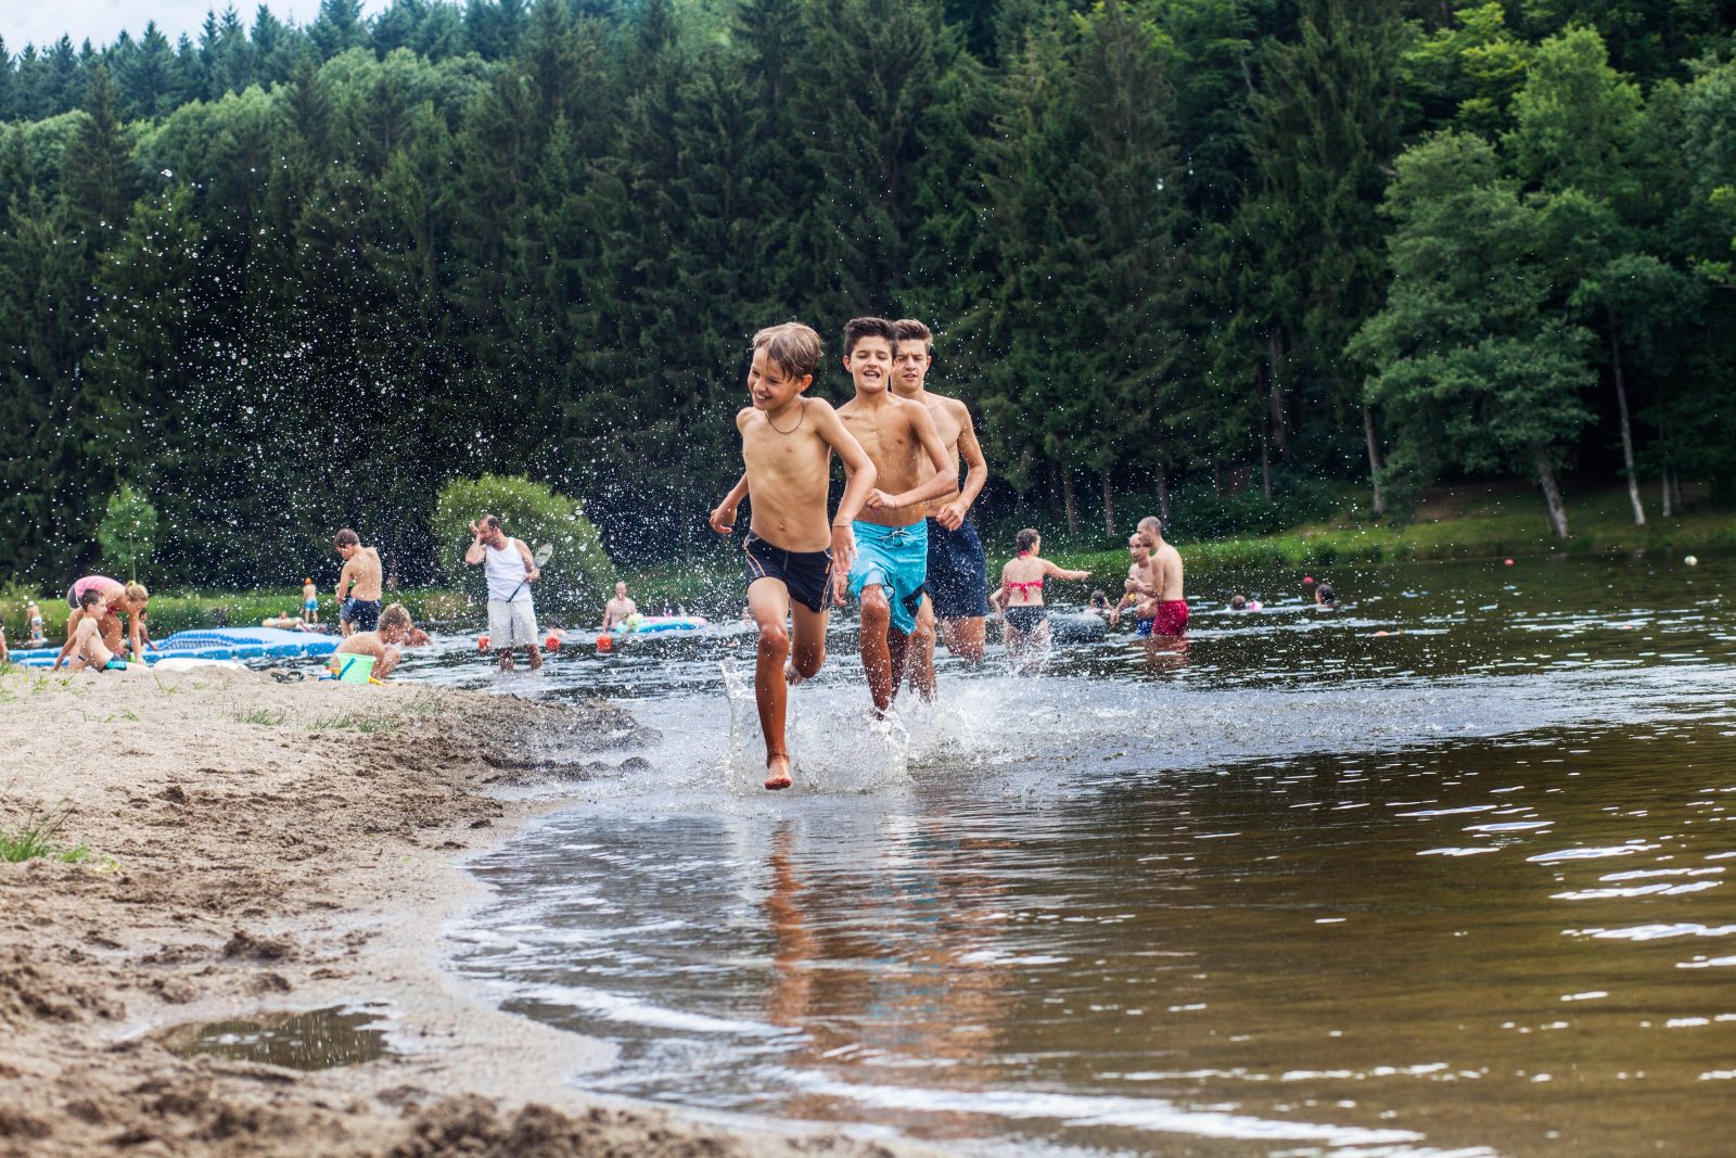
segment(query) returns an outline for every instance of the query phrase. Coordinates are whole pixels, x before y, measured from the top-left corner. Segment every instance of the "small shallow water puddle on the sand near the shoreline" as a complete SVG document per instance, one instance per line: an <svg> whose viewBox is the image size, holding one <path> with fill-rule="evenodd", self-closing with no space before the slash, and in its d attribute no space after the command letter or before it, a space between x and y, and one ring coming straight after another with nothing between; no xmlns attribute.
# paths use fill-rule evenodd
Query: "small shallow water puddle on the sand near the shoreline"
<svg viewBox="0 0 1736 1158"><path fill-rule="evenodd" d="M285 1069L359 1066L391 1052L382 1014L358 1005L194 1023L167 1030L156 1040L175 1057L214 1054Z"/></svg>

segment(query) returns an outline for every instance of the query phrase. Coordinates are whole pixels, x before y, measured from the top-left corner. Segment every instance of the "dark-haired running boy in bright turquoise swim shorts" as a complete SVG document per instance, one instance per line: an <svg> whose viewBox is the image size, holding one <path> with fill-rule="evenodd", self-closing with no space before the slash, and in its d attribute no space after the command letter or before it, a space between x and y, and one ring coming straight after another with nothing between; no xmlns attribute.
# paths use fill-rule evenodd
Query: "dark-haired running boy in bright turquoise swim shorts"
<svg viewBox="0 0 1736 1158"><path fill-rule="evenodd" d="M838 418L878 477L856 519L858 556L849 571L851 594L861 599L863 672L875 715L884 715L898 696L922 609L929 580L927 503L958 490L958 465L946 457L929 408L891 392L896 349L885 318L854 318L844 326L844 368L851 372L856 398L838 406ZM932 637L927 648L932 658Z"/></svg>

